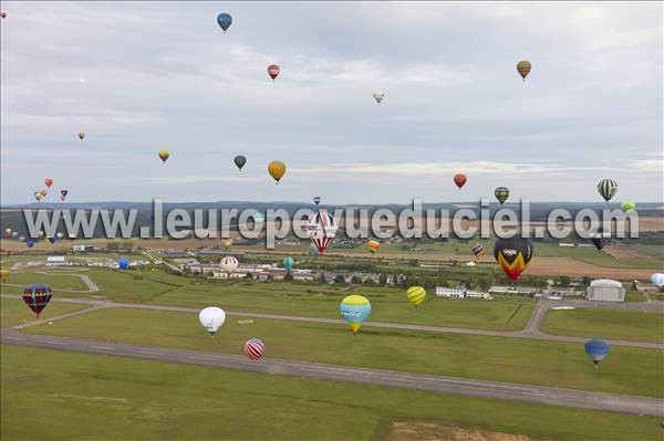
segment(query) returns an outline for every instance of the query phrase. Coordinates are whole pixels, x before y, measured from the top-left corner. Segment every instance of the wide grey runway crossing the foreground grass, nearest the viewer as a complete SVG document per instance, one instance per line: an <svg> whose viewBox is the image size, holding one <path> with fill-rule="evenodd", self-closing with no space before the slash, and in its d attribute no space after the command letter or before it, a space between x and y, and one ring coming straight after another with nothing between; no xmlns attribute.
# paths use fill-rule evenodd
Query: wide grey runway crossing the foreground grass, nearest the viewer
<svg viewBox="0 0 664 441"><path fill-rule="evenodd" d="M251 361L246 357L238 355L40 336L22 334L15 329L2 329L1 342L9 345L31 346L75 353L664 417L664 400L656 398L556 389L497 381L478 381L465 378L352 368L270 358Z"/></svg>

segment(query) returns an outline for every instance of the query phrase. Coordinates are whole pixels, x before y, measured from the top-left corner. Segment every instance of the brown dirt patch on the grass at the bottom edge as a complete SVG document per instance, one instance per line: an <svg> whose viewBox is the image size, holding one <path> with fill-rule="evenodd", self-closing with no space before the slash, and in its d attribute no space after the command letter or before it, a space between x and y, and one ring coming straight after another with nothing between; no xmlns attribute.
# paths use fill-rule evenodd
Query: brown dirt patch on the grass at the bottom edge
<svg viewBox="0 0 664 441"><path fill-rule="evenodd" d="M432 421L393 421L381 441L531 441L523 434Z"/></svg>

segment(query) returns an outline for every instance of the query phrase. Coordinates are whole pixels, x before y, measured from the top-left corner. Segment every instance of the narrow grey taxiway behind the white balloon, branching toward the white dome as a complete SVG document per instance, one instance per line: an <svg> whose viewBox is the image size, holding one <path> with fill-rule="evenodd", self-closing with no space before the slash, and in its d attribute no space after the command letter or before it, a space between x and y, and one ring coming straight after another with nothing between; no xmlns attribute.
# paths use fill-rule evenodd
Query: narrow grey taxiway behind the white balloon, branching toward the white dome
<svg viewBox="0 0 664 441"><path fill-rule="evenodd" d="M2 294L2 297L8 298L20 298L19 295L12 294ZM152 309L152 311L173 311L179 313L191 313L198 314L199 308L191 307L183 307L183 306L165 306L165 305L144 305L138 303L116 303L116 302L107 302L107 301L97 301L97 300L86 300L86 298L61 298L53 297L51 302L62 302L62 303L74 303L74 304L83 304L89 306L95 306L96 308L132 308L132 309ZM362 326L364 327L377 327L377 328L388 328L388 329L404 329L404 330L424 330L429 333L452 333L452 334L468 334L468 335L483 335L483 336L491 336L491 337L508 337L508 338L529 338L529 339L539 339L539 340L551 340L551 342L566 342L566 343L584 343L588 338L584 337L566 337L566 336L557 336L549 335L539 332L539 326L541 325L541 321L544 317L546 311L551 306L562 306L569 305L573 302L574 305L580 306L579 302L583 301L572 301L572 302L556 302L556 303L547 303L546 301L541 301L538 303L532 316L523 330L517 332L502 332L502 330L485 330L485 329L466 329L466 328L457 328L457 327L445 327L445 326L429 326L429 325L411 325L403 323L382 323L382 322L364 322ZM594 304L596 302L583 302L585 306L583 307L592 307L588 304ZM604 302L605 303L605 302ZM630 308L634 311L658 311L664 312L663 305L654 305L650 303L639 304L645 309L639 308ZM650 306L647 306L650 305ZM603 307L603 305L601 305ZM619 305L615 305L619 306ZM90 312L91 309L85 309L85 312ZM262 314L262 313L245 313L237 311L226 311L226 314L229 316L238 316L238 317L250 317L250 318L267 318L267 319L279 319L279 321L292 321L292 322L308 322L308 323L324 323L324 324L335 324L335 325L345 325L345 322L339 318L321 318L321 317L305 317L299 315L283 315L283 314ZM50 317L49 321L55 321L60 317ZM64 318L64 317L62 317ZM27 323L24 325L20 325L21 327L28 327L32 325L39 325L40 321ZM535 330L533 330L535 329ZM611 345L614 346L631 346L631 347L642 347L649 349L664 349L664 344L658 343L646 343L646 342L632 342L632 340L608 340Z"/></svg>

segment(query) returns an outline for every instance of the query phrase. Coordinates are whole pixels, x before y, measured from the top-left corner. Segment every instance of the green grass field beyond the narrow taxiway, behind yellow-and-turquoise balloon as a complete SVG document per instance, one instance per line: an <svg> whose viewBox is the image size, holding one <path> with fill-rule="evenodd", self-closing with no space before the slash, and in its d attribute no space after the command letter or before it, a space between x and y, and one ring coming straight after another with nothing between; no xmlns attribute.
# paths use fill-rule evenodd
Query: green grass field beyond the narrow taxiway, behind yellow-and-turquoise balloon
<svg viewBox="0 0 664 441"><path fill-rule="evenodd" d="M517 330L523 328L535 302L521 297L494 301L448 301L429 293L417 309L404 290L378 286L338 286L283 282L219 282L166 274L160 270L118 272L91 269L87 274L101 291L95 296L129 303L205 307L220 304L231 311L282 313L339 317L339 303L359 293L372 302L371 319L452 326L476 329ZM89 293L66 293L68 297Z"/></svg>

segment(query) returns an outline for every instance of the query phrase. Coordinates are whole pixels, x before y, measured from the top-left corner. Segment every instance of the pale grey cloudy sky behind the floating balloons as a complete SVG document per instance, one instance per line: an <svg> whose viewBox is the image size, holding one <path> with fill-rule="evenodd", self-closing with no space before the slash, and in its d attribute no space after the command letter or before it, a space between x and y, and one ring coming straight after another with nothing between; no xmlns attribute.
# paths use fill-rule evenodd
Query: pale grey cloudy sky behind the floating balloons
<svg viewBox="0 0 664 441"><path fill-rule="evenodd" d="M32 201L45 177L49 200L66 188L72 202L435 202L497 186L515 199L601 201L604 177L619 181L616 199L662 199L661 2L2 10L4 204ZM226 35L221 11L234 18ZM289 166L279 186L271 159ZM455 172L468 175L463 192Z"/></svg>

